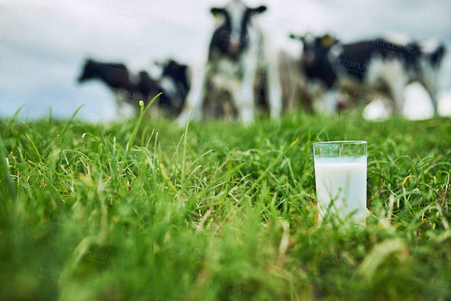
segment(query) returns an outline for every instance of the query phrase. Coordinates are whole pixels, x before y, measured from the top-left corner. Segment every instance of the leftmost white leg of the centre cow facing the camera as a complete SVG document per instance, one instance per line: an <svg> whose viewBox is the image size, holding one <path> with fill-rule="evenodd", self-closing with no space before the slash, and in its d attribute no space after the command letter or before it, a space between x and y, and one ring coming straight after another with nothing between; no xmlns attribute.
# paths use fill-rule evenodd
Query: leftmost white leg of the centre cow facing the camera
<svg viewBox="0 0 451 301"><path fill-rule="evenodd" d="M208 70L205 70L203 65L201 68L193 68L191 88L186 95L183 109L176 120L180 126L186 125L188 115L193 117L194 120L201 119L202 101L205 96L205 86L207 85L207 72Z"/></svg>

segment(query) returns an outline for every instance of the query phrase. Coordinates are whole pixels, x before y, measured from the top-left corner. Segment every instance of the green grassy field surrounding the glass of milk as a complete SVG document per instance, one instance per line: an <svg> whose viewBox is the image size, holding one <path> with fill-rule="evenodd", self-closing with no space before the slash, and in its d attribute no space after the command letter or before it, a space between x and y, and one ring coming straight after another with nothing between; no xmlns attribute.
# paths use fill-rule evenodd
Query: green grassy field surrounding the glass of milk
<svg viewBox="0 0 451 301"><path fill-rule="evenodd" d="M0 300L451 300L449 118L128 121L1 120ZM315 220L334 140L366 228Z"/></svg>

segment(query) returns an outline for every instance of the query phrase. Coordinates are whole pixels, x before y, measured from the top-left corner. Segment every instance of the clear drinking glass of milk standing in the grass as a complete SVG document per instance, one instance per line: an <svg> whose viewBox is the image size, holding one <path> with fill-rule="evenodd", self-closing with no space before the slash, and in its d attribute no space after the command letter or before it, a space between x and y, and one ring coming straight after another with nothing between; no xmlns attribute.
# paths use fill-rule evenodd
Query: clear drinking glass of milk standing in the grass
<svg viewBox="0 0 451 301"><path fill-rule="evenodd" d="M318 220L327 215L366 225L367 142L313 144Z"/></svg>

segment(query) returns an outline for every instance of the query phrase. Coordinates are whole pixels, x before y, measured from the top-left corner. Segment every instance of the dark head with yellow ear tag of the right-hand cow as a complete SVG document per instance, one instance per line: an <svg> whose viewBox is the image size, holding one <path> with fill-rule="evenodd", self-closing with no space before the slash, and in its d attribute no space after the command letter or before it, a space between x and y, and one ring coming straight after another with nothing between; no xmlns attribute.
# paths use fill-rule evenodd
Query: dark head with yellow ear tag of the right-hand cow
<svg viewBox="0 0 451 301"><path fill-rule="evenodd" d="M290 36L299 38L304 44L304 65L306 68L317 68L323 64L329 65L330 50L337 46L339 41L329 34L322 37L314 37L312 34L306 34L304 37Z"/></svg>

